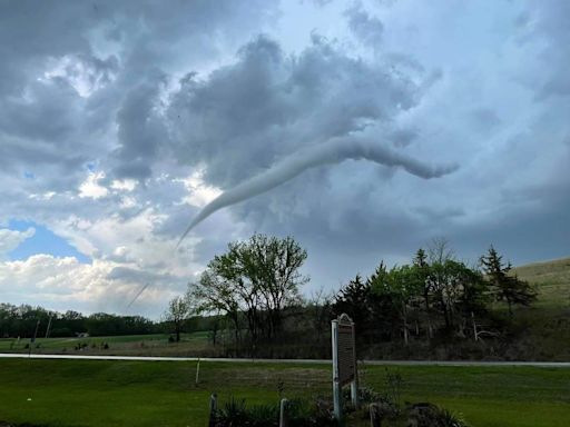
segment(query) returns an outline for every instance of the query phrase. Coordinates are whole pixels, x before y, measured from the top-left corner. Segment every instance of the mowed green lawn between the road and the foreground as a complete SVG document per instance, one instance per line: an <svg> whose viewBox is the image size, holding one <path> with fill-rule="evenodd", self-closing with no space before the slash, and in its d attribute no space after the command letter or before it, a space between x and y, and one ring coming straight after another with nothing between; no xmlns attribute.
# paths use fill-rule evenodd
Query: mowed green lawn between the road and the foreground
<svg viewBox="0 0 570 427"><path fill-rule="evenodd" d="M472 426L566 427L570 369L365 366L362 383L386 390L386 369L403 378L402 403L432 401ZM0 420L42 426L205 426L209 395L248 403L328 396L323 365L104 360L0 360Z"/></svg>

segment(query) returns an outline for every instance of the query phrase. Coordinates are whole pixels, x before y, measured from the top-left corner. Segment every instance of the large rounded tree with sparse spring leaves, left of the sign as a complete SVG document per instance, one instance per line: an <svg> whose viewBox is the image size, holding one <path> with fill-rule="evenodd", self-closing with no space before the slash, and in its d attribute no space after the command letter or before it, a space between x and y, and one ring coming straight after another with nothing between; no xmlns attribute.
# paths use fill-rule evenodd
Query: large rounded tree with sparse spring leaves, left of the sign
<svg viewBox="0 0 570 427"><path fill-rule="evenodd" d="M284 308L299 301L299 286L308 279L299 269L306 251L291 237L254 235L228 244L214 257L189 294L200 311L232 319L239 341L239 318L245 316L253 347L261 337L273 339L282 328Z"/></svg>

